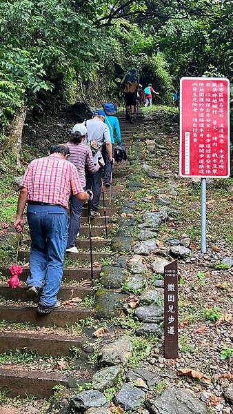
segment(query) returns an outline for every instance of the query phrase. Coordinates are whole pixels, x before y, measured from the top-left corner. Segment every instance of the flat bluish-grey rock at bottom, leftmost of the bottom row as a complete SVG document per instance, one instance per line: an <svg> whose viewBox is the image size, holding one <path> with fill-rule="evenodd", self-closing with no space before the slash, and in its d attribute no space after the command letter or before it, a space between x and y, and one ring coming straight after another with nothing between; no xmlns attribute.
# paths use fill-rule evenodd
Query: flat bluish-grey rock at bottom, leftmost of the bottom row
<svg viewBox="0 0 233 414"><path fill-rule="evenodd" d="M110 406L107 398L97 390L82 391L70 400L71 408L84 413L88 408Z"/></svg>

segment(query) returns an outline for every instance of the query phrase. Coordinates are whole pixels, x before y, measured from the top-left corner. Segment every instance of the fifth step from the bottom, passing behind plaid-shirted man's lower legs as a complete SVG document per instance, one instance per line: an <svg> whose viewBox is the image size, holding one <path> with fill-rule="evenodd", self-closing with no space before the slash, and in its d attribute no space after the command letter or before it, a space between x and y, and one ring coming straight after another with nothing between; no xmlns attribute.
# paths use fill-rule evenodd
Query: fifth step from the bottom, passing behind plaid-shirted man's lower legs
<svg viewBox="0 0 233 414"><path fill-rule="evenodd" d="M2 273L3 277L11 276L9 268L2 267L0 268L0 272ZM93 273L94 273L94 279L98 279L99 274L101 273L101 267L94 267ZM30 269L26 267L24 268L23 273L19 275L19 279L23 282L26 282L26 279L28 278L29 274L30 274ZM65 267L63 271L63 282L69 283L73 280L77 282L82 282L83 280L90 280L90 267L86 267L86 266Z"/></svg>

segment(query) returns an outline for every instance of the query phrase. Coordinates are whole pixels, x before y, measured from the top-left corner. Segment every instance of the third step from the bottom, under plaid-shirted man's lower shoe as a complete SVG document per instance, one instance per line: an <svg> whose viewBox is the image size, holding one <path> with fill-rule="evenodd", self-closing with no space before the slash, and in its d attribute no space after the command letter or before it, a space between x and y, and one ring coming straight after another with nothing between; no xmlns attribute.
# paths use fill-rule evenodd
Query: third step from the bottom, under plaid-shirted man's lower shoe
<svg viewBox="0 0 233 414"><path fill-rule="evenodd" d="M40 315L36 311L36 305L1 305L0 320L7 322L30 322L37 326L65 327L92 316L93 312L88 308L60 308L47 315Z"/></svg>

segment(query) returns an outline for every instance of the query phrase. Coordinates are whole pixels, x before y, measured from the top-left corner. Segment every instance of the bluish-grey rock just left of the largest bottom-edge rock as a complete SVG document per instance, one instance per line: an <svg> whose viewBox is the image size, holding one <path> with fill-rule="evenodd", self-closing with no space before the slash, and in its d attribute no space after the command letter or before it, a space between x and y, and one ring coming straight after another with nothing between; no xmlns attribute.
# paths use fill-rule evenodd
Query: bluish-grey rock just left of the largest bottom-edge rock
<svg viewBox="0 0 233 414"><path fill-rule="evenodd" d="M145 401L145 393L131 384L124 384L121 391L114 398L114 404L121 406L125 411L136 411Z"/></svg>

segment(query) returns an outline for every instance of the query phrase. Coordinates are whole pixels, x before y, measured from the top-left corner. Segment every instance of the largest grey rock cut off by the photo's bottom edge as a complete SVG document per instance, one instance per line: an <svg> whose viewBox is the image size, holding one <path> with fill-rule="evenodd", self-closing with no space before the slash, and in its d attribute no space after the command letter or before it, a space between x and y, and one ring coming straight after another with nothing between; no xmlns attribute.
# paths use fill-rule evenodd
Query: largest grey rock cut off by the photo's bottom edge
<svg viewBox="0 0 233 414"><path fill-rule="evenodd" d="M152 414L211 414L210 408L183 388L168 388L145 405Z"/></svg>

